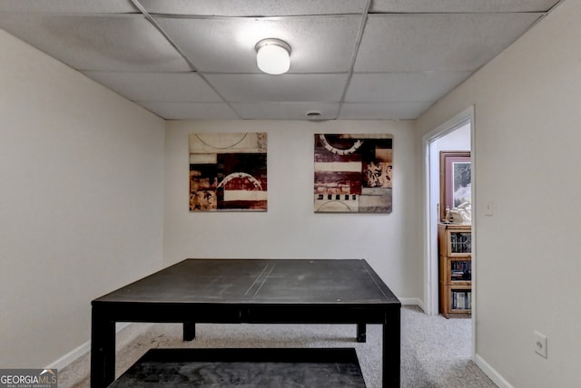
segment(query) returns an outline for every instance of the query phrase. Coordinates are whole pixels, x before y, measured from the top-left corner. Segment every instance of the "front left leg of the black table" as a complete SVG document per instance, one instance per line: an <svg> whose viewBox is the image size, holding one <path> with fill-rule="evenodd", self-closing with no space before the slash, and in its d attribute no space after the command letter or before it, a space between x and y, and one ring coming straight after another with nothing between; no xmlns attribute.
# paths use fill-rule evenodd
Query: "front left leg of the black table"
<svg viewBox="0 0 581 388"><path fill-rule="evenodd" d="M104 388L115 379L115 323L93 307L91 317L91 388Z"/></svg>

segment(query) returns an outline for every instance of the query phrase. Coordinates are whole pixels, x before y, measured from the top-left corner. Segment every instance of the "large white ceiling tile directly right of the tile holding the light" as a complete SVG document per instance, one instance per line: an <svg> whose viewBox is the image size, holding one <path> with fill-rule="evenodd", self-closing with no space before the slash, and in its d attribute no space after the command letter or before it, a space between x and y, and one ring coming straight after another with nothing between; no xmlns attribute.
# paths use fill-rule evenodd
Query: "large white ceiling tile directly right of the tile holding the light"
<svg viewBox="0 0 581 388"><path fill-rule="evenodd" d="M541 14L369 15L356 72L474 71Z"/></svg>

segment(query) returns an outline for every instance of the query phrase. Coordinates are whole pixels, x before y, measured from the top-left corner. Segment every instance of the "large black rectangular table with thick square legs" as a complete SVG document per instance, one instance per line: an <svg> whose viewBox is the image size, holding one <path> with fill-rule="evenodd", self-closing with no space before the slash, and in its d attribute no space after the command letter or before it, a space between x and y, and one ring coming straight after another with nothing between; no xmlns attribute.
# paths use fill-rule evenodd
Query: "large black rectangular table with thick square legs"
<svg viewBox="0 0 581 388"><path fill-rule="evenodd" d="M187 259L92 302L91 386L112 383L115 323L383 325L384 387L399 387L399 299L365 260Z"/></svg>

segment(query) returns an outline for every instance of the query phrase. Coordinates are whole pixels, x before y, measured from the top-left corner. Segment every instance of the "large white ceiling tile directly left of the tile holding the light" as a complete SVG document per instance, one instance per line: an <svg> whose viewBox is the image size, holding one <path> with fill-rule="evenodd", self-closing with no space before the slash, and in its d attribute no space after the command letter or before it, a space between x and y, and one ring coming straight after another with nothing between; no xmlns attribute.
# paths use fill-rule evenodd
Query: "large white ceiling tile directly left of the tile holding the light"
<svg viewBox="0 0 581 388"><path fill-rule="evenodd" d="M77 70L191 70L143 15L0 14L0 27Z"/></svg>

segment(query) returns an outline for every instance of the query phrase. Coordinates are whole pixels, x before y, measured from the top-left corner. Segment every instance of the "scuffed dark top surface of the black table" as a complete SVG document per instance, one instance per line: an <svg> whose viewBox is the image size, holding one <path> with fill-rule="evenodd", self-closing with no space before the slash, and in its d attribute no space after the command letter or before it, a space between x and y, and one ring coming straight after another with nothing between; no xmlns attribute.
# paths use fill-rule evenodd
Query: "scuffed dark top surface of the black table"
<svg viewBox="0 0 581 388"><path fill-rule="evenodd" d="M94 299L106 303L400 305L362 259L186 259Z"/></svg>

